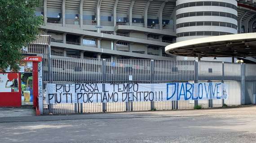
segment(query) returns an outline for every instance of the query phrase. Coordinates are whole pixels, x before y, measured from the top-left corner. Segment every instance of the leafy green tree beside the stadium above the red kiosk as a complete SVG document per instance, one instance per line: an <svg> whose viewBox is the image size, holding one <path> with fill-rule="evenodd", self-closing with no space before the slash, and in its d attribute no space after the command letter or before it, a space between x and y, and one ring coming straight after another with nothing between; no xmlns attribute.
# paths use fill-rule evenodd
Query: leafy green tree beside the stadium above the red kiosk
<svg viewBox="0 0 256 143"><path fill-rule="evenodd" d="M0 0L0 69L18 71L21 50L35 40L43 17L35 16L41 0Z"/></svg>

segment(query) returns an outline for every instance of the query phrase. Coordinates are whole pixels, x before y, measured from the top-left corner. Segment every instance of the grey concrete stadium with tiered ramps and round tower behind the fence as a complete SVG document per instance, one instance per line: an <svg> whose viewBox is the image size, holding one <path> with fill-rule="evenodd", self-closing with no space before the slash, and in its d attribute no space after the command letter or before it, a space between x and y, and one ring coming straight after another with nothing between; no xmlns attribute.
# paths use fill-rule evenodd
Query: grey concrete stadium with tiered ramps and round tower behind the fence
<svg viewBox="0 0 256 143"><path fill-rule="evenodd" d="M206 36L255 32L255 2L44 0L36 15L44 16L41 34L52 36L51 54L56 57L184 59L166 54L164 47Z"/></svg>

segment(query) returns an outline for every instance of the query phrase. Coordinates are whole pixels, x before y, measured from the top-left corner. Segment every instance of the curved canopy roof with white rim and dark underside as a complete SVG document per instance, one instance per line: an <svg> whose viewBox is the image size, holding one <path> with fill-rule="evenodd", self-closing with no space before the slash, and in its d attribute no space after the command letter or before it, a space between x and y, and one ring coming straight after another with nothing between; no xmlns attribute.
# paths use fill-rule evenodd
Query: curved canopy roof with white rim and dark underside
<svg viewBox="0 0 256 143"><path fill-rule="evenodd" d="M188 57L256 57L256 33L186 40L166 46L165 52Z"/></svg>

